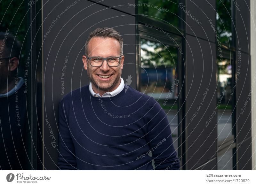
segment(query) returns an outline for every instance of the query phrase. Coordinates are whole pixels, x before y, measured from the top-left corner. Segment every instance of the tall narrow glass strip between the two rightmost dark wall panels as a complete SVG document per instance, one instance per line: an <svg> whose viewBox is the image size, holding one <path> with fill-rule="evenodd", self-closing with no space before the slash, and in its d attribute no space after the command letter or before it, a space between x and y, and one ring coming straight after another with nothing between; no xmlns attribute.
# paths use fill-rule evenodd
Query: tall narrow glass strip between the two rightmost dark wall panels
<svg viewBox="0 0 256 186"><path fill-rule="evenodd" d="M233 170L236 150L236 63L234 59L234 3L216 1L217 47L217 139L218 170ZM223 150L224 147L234 148Z"/></svg>

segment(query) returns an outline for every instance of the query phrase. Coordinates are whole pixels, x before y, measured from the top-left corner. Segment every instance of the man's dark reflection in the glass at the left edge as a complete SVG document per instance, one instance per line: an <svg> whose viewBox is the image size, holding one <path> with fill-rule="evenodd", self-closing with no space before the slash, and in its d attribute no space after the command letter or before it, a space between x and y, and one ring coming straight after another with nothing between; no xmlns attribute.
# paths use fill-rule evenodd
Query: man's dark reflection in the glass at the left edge
<svg viewBox="0 0 256 186"><path fill-rule="evenodd" d="M21 45L8 30L0 32L0 170L25 168L26 99L17 76Z"/></svg>

